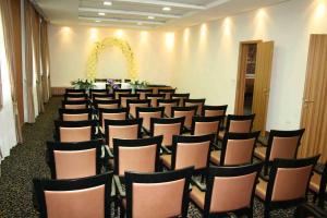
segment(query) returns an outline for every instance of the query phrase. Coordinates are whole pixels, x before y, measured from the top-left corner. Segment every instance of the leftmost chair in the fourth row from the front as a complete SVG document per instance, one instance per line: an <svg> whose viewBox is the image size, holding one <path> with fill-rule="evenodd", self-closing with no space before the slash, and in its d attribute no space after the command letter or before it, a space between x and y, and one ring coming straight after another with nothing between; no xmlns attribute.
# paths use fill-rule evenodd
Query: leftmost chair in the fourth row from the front
<svg viewBox="0 0 327 218"><path fill-rule="evenodd" d="M59 119L62 121L85 121L92 120L93 110L87 109L63 109L59 108Z"/></svg>

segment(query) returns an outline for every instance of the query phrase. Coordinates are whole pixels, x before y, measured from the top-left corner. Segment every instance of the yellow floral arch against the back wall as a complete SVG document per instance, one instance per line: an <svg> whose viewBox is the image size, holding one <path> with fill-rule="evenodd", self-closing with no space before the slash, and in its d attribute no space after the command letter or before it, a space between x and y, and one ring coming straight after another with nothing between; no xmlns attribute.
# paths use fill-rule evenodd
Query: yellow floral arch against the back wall
<svg viewBox="0 0 327 218"><path fill-rule="evenodd" d="M87 77L93 81L96 78L99 56L106 48L112 46L121 49L128 62L129 76L131 80L135 81L137 78L137 70L134 53L126 40L116 37L108 37L101 41L95 43L95 47L87 61Z"/></svg>

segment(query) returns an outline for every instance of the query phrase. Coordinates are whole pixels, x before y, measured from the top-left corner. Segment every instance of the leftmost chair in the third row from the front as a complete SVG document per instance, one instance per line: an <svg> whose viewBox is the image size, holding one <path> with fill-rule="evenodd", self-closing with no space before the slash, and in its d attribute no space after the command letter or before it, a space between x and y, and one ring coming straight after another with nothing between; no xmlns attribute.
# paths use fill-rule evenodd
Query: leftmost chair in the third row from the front
<svg viewBox="0 0 327 218"><path fill-rule="evenodd" d="M88 121L55 121L55 140L61 143L86 142L96 138L98 122Z"/></svg>

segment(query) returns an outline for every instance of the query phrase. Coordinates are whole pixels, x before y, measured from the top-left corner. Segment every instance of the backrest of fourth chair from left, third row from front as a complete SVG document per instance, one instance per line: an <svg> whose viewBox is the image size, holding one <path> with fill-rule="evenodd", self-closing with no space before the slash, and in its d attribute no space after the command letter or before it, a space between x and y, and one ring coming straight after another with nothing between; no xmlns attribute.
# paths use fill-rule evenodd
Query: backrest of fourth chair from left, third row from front
<svg viewBox="0 0 327 218"><path fill-rule="evenodd" d="M218 135L225 116L217 117L193 117L192 119L192 135Z"/></svg>

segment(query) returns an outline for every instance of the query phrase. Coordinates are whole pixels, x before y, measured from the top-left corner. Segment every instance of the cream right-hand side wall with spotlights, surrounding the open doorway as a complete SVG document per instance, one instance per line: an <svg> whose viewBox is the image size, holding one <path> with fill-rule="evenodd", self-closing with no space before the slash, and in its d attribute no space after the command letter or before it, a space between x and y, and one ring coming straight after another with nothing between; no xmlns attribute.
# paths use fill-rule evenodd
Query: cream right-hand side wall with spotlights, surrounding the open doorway
<svg viewBox="0 0 327 218"><path fill-rule="evenodd" d="M274 40L267 130L299 128L310 34L327 34L327 0L292 0L175 33L172 85L234 109L239 44Z"/></svg>

